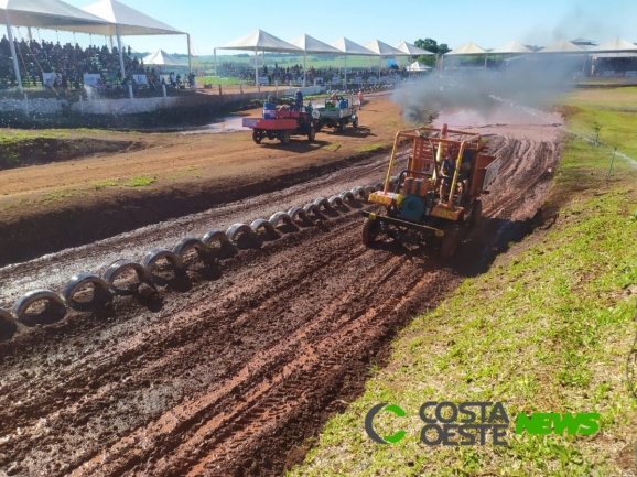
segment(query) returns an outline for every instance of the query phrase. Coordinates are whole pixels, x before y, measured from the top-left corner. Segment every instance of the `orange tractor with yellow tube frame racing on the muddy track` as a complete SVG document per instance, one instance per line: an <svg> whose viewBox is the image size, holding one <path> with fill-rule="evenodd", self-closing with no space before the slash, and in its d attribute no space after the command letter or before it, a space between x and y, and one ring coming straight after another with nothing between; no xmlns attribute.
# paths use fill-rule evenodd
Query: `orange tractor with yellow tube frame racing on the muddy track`
<svg viewBox="0 0 637 477"><path fill-rule="evenodd" d="M404 139L413 143L408 166L392 176L396 152ZM369 202L384 205L387 214L363 212L363 242L369 246L385 235L434 243L442 259L453 257L463 231L481 220L479 197L488 194L499 163L476 133L453 131L446 124L399 131L385 187L369 195Z"/></svg>

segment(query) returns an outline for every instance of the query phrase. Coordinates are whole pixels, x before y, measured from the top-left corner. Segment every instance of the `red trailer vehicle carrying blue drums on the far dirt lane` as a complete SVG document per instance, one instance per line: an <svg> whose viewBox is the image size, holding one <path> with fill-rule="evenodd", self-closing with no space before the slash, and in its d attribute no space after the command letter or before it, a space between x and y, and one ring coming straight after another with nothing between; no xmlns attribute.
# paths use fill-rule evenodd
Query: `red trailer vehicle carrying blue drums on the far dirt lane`
<svg viewBox="0 0 637 477"><path fill-rule="evenodd" d="M270 111L269 116L244 118L244 127L252 129L252 139L257 144L260 144L263 138L278 139L282 144L288 144L291 135L306 135L310 142L314 141L315 129L312 115L281 109Z"/></svg>

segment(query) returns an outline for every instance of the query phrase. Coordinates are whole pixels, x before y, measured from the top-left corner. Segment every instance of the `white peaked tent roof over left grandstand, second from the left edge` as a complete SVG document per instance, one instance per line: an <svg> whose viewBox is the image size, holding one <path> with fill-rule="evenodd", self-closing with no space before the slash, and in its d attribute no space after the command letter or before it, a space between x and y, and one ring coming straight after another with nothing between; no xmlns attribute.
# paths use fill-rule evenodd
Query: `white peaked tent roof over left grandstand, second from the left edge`
<svg viewBox="0 0 637 477"><path fill-rule="evenodd" d="M101 0L83 9L85 12L99 17L108 22L101 28L80 28L75 31L115 36L116 24L121 35L175 35L184 34L145 13L131 9L117 0Z"/></svg>

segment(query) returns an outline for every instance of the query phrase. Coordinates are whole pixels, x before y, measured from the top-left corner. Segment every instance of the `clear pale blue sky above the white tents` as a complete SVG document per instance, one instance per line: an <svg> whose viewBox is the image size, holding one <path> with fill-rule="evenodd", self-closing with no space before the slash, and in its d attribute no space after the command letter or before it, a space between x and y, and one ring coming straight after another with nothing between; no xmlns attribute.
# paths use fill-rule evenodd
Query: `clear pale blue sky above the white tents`
<svg viewBox="0 0 637 477"><path fill-rule="evenodd" d="M95 0L66 0L83 8ZM396 45L431 37L451 48L474 42L495 48L512 40L547 46L561 39L585 37L603 43L614 36L637 42L637 1L606 0L367 0L366 2L290 2L280 0L121 0L122 3L177 30L188 32L194 54L257 29L290 41L303 33L325 43L345 36L365 45L380 40ZM1 28L0 28L1 30ZM25 29L20 30L25 36ZM105 44L85 34L33 31L35 39L80 45ZM185 36L128 36L134 52L186 53ZM239 52L219 51L217 54Z"/></svg>

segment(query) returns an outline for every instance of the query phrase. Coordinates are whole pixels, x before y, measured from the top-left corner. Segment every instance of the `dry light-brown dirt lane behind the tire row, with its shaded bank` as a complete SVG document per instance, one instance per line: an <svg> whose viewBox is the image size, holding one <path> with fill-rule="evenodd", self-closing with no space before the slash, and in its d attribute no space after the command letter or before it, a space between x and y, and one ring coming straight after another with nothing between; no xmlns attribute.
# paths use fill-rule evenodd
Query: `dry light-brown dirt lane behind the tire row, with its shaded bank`
<svg viewBox="0 0 637 477"><path fill-rule="evenodd" d="M288 147L257 145L250 131L88 133L91 141L137 145L0 171L0 264L271 192L367 158L361 149L387 148L404 126L387 95L369 100L357 130L324 130L313 143L293 137ZM131 186L140 178L154 182Z"/></svg>

